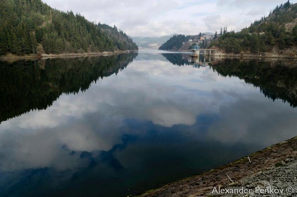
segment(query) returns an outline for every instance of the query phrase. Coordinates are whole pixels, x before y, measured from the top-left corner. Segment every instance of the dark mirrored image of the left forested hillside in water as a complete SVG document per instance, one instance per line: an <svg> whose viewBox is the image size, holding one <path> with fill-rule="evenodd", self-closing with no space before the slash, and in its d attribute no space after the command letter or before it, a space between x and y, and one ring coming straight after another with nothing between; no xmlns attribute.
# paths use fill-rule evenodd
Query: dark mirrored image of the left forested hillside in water
<svg viewBox="0 0 297 197"><path fill-rule="evenodd" d="M92 82L118 73L136 56L0 62L0 122L46 109L63 93L86 91Z"/></svg>

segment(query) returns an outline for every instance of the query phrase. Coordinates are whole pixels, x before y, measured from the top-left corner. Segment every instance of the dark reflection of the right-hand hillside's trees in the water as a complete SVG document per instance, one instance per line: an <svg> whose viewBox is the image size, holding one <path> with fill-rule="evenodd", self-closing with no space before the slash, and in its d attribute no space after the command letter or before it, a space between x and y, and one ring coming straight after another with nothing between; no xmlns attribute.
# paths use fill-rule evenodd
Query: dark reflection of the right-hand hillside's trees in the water
<svg viewBox="0 0 297 197"><path fill-rule="evenodd" d="M282 99L297 107L297 67L294 63L226 59L211 67L222 76L236 76L259 87L265 97Z"/></svg>

